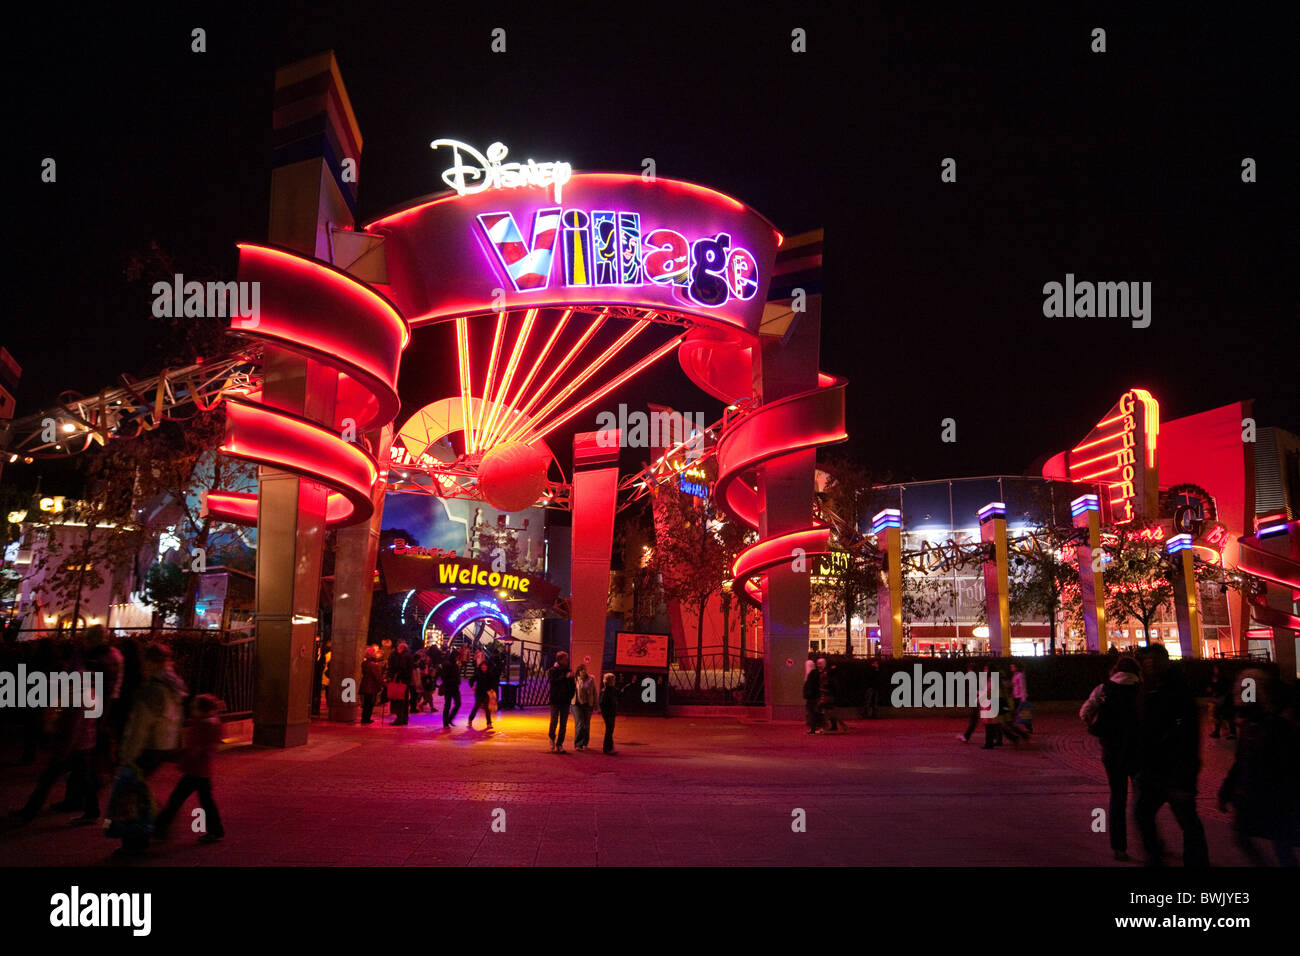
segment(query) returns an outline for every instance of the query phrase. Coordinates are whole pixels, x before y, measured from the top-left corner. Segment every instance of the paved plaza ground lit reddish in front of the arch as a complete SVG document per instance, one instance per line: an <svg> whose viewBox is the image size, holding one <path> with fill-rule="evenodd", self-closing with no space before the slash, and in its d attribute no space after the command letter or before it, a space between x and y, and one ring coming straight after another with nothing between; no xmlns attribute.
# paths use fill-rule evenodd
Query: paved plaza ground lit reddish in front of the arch
<svg viewBox="0 0 1300 956"><path fill-rule="evenodd" d="M1032 741L993 750L980 749L979 731L962 744L965 721L937 715L858 719L819 736L725 717L624 718L614 756L599 752L599 718L597 749L572 753L569 740L567 756L549 753L540 709L502 713L493 734L463 717L445 732L430 714L407 727L316 721L306 747L233 745L216 757L225 842L200 845L186 831L191 800L172 840L130 864L1124 866L1092 831L1106 786L1074 710L1040 705ZM1213 805L1231 747L1202 748L1216 865L1244 862ZM13 765L12 739L0 756L0 806L14 808L39 767ZM177 777L174 765L155 774L160 799ZM805 832L792 826L796 810ZM0 832L0 865L108 864L116 843L70 817L47 810ZM1167 810L1161 825L1179 851ZM1130 852L1141 855L1131 825Z"/></svg>

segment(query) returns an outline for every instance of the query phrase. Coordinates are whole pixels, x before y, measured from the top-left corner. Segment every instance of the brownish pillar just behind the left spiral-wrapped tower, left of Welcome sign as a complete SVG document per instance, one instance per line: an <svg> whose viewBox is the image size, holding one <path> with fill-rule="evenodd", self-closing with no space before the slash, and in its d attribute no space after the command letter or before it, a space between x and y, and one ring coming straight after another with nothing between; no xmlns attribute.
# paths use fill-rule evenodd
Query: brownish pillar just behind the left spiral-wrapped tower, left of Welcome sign
<svg viewBox="0 0 1300 956"><path fill-rule="evenodd" d="M389 460L393 425L372 436L376 459ZM334 553L334 630L332 632L329 719L354 723L360 711L361 656L370 632L370 604L374 600L374 567L380 555L380 527L384 524L384 493L387 483L380 471L370 499L374 514L365 524L341 528L335 535ZM351 679L351 692L343 693L343 682ZM344 700L344 696L348 700Z"/></svg>

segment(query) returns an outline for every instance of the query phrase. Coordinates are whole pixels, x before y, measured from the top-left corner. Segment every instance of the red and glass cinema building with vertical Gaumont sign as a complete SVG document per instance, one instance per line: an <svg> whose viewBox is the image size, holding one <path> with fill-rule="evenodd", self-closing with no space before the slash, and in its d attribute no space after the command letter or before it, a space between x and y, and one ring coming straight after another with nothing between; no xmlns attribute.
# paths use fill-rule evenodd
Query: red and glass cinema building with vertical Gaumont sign
<svg viewBox="0 0 1300 956"><path fill-rule="evenodd" d="M994 502L1005 510L1014 576L1017 550L1032 545L1036 528L1078 527L1071 506L1086 494L1097 496L1102 544L1106 528L1132 525L1165 542L1171 561L1191 554L1196 574L1188 611L1195 618L1188 615L1184 630L1195 620L1201 656L1266 656L1284 663L1295 653L1300 437L1258 427L1249 401L1162 421L1158 401L1132 389L1078 445L1050 457L1041 477L913 481L878 492L881 510L897 512L901 525L905 588L942 593L924 617L909 618L905 609L905 653L991 649L982 510ZM811 650L842 650L844 623L828 617L835 615L814 617ZM1009 653L1050 648L1046 620L1009 623ZM879 615L864 614L854 626L855 653L880 653ZM1174 657L1183 653L1178 602L1161 609L1149 635L1136 622L1106 620L1106 646L1145 640L1166 644ZM1084 622L1058 623L1057 648L1082 652L1087 643Z"/></svg>

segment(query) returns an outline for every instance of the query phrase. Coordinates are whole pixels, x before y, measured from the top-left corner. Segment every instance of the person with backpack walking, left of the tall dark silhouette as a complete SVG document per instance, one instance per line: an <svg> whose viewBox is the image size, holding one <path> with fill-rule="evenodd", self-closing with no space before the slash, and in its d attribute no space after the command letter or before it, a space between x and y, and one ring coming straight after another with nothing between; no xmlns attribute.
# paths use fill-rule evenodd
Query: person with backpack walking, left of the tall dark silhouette
<svg viewBox="0 0 1300 956"><path fill-rule="evenodd" d="M1110 787L1106 831L1115 860L1128 860L1128 782L1138 775L1138 691L1140 669L1131 657L1121 657L1110 676L1097 684L1079 708L1088 732L1101 741L1101 766Z"/></svg>

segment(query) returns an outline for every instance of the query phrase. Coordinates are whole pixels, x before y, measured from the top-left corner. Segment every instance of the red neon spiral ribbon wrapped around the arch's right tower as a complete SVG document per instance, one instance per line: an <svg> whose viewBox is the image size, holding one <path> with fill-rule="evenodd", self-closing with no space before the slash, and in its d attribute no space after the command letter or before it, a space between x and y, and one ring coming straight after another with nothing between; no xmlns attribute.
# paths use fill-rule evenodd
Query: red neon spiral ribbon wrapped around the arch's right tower
<svg viewBox="0 0 1300 956"><path fill-rule="evenodd" d="M693 334L682 343L679 359L706 392L724 402L738 402L751 390L751 347L711 333ZM762 499L754 476L759 466L849 437L844 427L846 385L845 378L819 372L815 388L762 405L728 427L718 441L716 490L728 514L758 531ZM768 535L746 548L732 564L732 578L741 585L736 593L760 604L763 574L792 561L796 549L805 555L828 554L831 529L812 522L810 514L807 525Z"/></svg>

